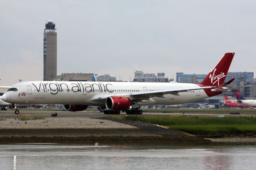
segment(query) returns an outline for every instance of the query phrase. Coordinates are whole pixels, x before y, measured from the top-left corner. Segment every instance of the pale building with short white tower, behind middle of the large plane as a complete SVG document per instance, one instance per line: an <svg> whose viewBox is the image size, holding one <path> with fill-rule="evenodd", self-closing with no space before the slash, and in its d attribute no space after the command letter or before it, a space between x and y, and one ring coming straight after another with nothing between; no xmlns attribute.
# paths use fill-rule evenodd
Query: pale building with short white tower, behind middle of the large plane
<svg viewBox="0 0 256 170"><path fill-rule="evenodd" d="M142 70L135 70L134 79L135 82L169 82L168 77L164 77L164 73L145 73Z"/></svg>

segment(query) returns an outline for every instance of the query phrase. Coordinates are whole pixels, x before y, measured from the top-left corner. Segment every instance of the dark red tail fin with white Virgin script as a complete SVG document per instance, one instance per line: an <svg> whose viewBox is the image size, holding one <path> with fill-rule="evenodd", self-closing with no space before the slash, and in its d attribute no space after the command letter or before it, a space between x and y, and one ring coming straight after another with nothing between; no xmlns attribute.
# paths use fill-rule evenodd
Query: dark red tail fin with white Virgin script
<svg viewBox="0 0 256 170"><path fill-rule="evenodd" d="M200 83L201 85L222 85L224 83L225 77L228 73L228 69L232 62L235 53L226 53L220 59L218 64L212 69L212 71L205 77L205 79Z"/></svg>

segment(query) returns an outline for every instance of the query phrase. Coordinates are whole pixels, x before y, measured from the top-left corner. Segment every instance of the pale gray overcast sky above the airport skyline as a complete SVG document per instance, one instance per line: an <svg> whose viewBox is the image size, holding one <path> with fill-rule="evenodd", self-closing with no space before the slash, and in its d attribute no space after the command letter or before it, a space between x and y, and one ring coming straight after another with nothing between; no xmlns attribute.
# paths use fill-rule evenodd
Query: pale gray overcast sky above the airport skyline
<svg viewBox="0 0 256 170"><path fill-rule="evenodd" d="M0 85L43 79L43 32L54 20L60 73L256 73L254 0L0 1Z"/></svg>

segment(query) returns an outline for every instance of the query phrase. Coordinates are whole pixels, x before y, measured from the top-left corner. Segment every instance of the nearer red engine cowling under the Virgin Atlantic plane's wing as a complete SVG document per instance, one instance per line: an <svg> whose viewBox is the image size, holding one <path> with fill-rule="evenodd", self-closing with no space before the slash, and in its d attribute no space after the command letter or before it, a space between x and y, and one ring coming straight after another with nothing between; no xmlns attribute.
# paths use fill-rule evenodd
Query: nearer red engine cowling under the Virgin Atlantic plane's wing
<svg viewBox="0 0 256 170"><path fill-rule="evenodd" d="M122 96L111 96L106 99L106 108L111 111L124 111L130 109L131 99Z"/></svg>

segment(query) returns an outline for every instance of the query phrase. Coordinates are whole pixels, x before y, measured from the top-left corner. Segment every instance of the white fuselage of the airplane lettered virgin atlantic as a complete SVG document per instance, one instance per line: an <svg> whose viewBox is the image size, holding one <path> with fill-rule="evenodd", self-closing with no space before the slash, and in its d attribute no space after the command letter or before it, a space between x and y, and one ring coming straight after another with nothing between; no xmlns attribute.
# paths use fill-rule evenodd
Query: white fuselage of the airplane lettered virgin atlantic
<svg viewBox="0 0 256 170"><path fill-rule="evenodd" d="M132 94L143 91L199 87L190 83L140 83L140 82L77 82L77 81L30 81L13 85L18 91L7 91L6 101L16 104L80 104L104 106L95 96ZM205 99L203 89L167 94L138 102L138 105L178 105Z"/></svg>

